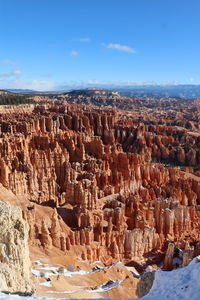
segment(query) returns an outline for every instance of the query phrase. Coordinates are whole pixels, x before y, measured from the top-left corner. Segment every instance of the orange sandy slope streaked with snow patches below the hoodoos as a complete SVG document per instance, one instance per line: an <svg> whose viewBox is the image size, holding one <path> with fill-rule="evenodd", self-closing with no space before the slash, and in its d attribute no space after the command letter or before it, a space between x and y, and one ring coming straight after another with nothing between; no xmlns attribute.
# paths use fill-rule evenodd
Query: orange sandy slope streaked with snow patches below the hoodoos
<svg viewBox="0 0 200 300"><path fill-rule="evenodd" d="M64 299L137 298L138 279L123 263L89 263L52 253L46 257L39 252L33 255L32 274L37 296Z"/></svg>

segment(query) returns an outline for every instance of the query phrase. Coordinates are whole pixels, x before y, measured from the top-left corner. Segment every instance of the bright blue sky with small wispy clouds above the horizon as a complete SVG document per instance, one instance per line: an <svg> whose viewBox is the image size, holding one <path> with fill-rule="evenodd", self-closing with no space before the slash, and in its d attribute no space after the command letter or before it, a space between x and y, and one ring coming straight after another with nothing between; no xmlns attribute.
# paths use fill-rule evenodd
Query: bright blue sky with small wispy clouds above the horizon
<svg viewBox="0 0 200 300"><path fill-rule="evenodd" d="M199 0L0 0L0 88L200 84Z"/></svg>

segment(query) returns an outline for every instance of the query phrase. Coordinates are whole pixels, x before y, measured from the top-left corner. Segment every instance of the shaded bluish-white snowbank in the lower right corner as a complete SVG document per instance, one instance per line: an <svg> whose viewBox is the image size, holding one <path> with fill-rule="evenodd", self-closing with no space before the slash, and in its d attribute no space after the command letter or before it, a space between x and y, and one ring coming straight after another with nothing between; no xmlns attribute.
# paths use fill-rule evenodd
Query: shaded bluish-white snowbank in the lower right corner
<svg viewBox="0 0 200 300"><path fill-rule="evenodd" d="M143 300L200 300L200 256L171 272L157 271L153 286Z"/></svg>

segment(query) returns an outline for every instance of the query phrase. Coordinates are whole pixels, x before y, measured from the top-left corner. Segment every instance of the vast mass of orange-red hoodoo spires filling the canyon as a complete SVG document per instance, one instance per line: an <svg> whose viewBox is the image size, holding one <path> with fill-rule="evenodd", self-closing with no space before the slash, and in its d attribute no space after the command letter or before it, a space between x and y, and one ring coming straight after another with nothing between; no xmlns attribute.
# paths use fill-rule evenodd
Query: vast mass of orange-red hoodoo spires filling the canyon
<svg viewBox="0 0 200 300"><path fill-rule="evenodd" d="M0 182L30 201L31 245L104 261L195 246L199 136L151 123L62 102L1 114ZM165 166L177 158L189 172Z"/></svg>

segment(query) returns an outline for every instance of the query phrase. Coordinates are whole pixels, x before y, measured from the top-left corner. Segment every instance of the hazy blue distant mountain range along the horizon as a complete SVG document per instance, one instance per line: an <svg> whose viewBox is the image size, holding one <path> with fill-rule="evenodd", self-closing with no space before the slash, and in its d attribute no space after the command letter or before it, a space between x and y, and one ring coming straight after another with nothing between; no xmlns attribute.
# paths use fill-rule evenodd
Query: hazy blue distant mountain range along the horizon
<svg viewBox="0 0 200 300"><path fill-rule="evenodd" d="M54 91L39 92L29 89L9 89L10 92L21 94L60 94L70 90L110 90L120 92L127 97L179 97L179 98L200 98L200 85L135 85L135 86L112 86L99 85L88 86L62 86Z"/></svg>

